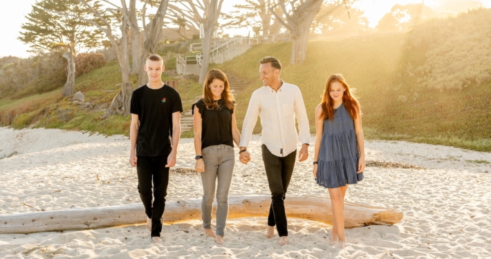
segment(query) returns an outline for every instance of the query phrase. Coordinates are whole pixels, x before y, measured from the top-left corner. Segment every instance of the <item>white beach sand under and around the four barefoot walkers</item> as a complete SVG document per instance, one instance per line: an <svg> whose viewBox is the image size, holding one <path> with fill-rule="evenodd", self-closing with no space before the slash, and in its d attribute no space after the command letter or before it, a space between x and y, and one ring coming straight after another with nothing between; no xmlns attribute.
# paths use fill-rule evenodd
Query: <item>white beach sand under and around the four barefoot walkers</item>
<svg viewBox="0 0 491 259"><path fill-rule="evenodd" d="M313 142L313 139L312 139ZM408 142L367 141L367 160L427 170L368 167L346 200L391 207L395 226L347 229L341 250L328 243L331 226L288 220L290 244L267 240L266 218L229 220L225 244L205 238L198 220L163 227L152 244L143 225L0 235L0 258L491 258L491 153ZM259 137L252 162L237 162L230 195L269 195ZM328 196L311 174L312 152L297 163L288 195ZM139 203L129 140L73 131L0 128L0 214ZM178 167L194 166L191 139L181 140ZM98 175L100 180L96 179ZM201 178L171 175L168 200L199 198ZM288 199L287 195L287 199Z"/></svg>

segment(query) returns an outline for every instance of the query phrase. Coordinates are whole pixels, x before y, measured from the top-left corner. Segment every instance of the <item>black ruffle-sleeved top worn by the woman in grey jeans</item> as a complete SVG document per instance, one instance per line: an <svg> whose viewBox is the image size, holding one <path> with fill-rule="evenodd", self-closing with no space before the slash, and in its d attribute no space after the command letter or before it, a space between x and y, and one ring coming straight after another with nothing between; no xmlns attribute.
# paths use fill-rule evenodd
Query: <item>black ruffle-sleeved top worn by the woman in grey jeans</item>
<svg viewBox="0 0 491 259"><path fill-rule="evenodd" d="M234 110L229 110L221 99L215 101L217 108L206 108L203 99L200 99L192 106L194 114L194 106L198 107L201 113L201 149L207 146L225 144L234 146L234 138L232 137L232 113Z"/></svg>

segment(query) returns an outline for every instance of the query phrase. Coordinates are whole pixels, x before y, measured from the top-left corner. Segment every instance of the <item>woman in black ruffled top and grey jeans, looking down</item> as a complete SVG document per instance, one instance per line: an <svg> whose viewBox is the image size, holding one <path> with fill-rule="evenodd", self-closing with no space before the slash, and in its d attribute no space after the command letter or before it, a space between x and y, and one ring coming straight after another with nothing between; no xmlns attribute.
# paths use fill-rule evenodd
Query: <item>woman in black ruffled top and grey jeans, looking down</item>
<svg viewBox="0 0 491 259"><path fill-rule="evenodd" d="M234 142L239 145L241 134L235 122L234 96L230 93L227 76L212 69L203 84L203 97L193 104L194 150L196 171L201 173L203 201L201 218L206 236L223 244L228 216L228 191L234 171ZM215 182L218 178L218 184ZM216 231L212 231L213 200L216 191Z"/></svg>

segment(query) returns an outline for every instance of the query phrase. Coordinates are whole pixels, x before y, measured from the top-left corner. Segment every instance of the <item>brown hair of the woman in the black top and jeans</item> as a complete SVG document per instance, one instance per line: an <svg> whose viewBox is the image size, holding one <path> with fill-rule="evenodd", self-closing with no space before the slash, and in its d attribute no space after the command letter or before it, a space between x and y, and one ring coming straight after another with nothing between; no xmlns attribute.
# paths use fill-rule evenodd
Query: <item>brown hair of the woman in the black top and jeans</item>
<svg viewBox="0 0 491 259"><path fill-rule="evenodd" d="M203 83L203 102L205 102L205 106L207 108L216 108L217 106L216 102L213 100L212 90L210 89L210 84L212 84L213 79L223 81L223 92L221 93L223 104L225 104L229 110L235 108L235 98L234 95L230 93L227 76L219 69L208 71L208 74L205 77L205 82Z"/></svg>

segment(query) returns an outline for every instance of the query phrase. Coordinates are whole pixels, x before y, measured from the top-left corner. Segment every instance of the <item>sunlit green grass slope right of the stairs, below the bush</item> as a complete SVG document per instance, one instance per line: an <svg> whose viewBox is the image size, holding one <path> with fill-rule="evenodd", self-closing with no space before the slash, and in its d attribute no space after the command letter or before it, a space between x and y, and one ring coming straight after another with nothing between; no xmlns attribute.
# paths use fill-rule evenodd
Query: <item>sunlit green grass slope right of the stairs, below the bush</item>
<svg viewBox="0 0 491 259"><path fill-rule="evenodd" d="M325 81L329 75L341 73L357 89L367 139L443 144L490 152L491 82L461 90L419 86L403 70L407 70L408 61L424 63L419 59L425 55L407 51L405 37L401 34L310 41L306 61L295 65L289 64L290 44L263 44L214 68L252 81L237 95L239 127L252 92L262 86L259 60L270 55L283 64L281 78L302 90L311 133L315 133L314 111L321 101ZM258 123L254 133L260 129Z"/></svg>

